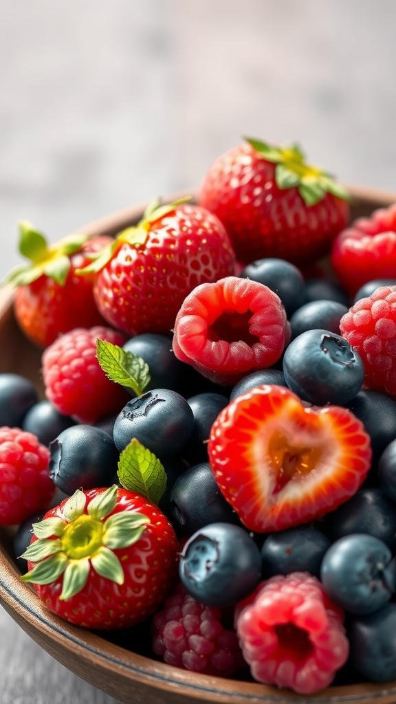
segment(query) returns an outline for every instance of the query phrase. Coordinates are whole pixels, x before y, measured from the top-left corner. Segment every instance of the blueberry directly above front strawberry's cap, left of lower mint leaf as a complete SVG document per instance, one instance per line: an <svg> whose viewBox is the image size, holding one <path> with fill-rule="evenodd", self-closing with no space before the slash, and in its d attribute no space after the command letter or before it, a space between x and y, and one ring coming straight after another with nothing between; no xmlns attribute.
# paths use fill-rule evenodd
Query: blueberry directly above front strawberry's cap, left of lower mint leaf
<svg viewBox="0 0 396 704"><path fill-rule="evenodd" d="M49 444L49 473L54 484L70 496L76 489L110 486L119 453L108 433L92 425L63 430Z"/></svg>

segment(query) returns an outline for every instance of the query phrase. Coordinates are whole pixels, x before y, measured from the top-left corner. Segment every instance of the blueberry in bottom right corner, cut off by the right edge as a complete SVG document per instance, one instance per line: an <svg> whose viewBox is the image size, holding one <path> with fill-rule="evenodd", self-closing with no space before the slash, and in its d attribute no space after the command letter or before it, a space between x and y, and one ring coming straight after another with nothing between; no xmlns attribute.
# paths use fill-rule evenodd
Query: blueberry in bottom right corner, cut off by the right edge
<svg viewBox="0 0 396 704"><path fill-rule="evenodd" d="M350 660L364 679L396 679L396 604L385 604L372 614L354 618L348 638Z"/></svg>

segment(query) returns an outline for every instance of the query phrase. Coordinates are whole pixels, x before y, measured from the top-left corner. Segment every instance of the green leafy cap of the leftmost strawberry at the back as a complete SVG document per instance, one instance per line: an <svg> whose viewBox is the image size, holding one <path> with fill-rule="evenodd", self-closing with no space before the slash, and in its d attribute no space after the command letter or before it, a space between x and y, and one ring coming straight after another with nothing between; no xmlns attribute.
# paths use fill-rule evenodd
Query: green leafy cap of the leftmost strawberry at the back
<svg viewBox="0 0 396 704"><path fill-rule="evenodd" d="M87 239L88 235L75 233L49 245L42 232L21 220L18 251L29 263L13 268L4 283L23 286L45 275L63 286L70 270L70 254L78 251Z"/></svg>

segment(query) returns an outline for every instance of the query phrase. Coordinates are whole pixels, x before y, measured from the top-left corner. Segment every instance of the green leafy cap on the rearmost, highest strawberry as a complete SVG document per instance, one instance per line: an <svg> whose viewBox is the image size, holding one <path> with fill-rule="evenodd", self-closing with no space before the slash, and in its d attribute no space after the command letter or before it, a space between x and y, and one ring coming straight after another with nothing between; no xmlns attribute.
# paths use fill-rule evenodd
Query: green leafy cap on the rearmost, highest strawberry
<svg viewBox="0 0 396 704"><path fill-rule="evenodd" d="M276 164L275 180L279 189L297 188L307 206L314 206L331 193L343 200L349 199L345 187L336 182L326 171L306 163L305 155L297 144L287 147L271 146L258 139L245 138L266 161Z"/></svg>

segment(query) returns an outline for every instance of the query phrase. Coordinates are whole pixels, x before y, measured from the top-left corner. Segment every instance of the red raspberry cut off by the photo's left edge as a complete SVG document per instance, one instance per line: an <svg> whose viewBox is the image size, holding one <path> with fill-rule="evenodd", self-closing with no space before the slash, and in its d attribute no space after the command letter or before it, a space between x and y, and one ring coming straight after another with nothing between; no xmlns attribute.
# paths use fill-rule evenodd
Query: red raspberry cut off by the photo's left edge
<svg viewBox="0 0 396 704"><path fill-rule="evenodd" d="M55 494L49 449L30 432L0 428L0 525L23 522L46 510Z"/></svg>

